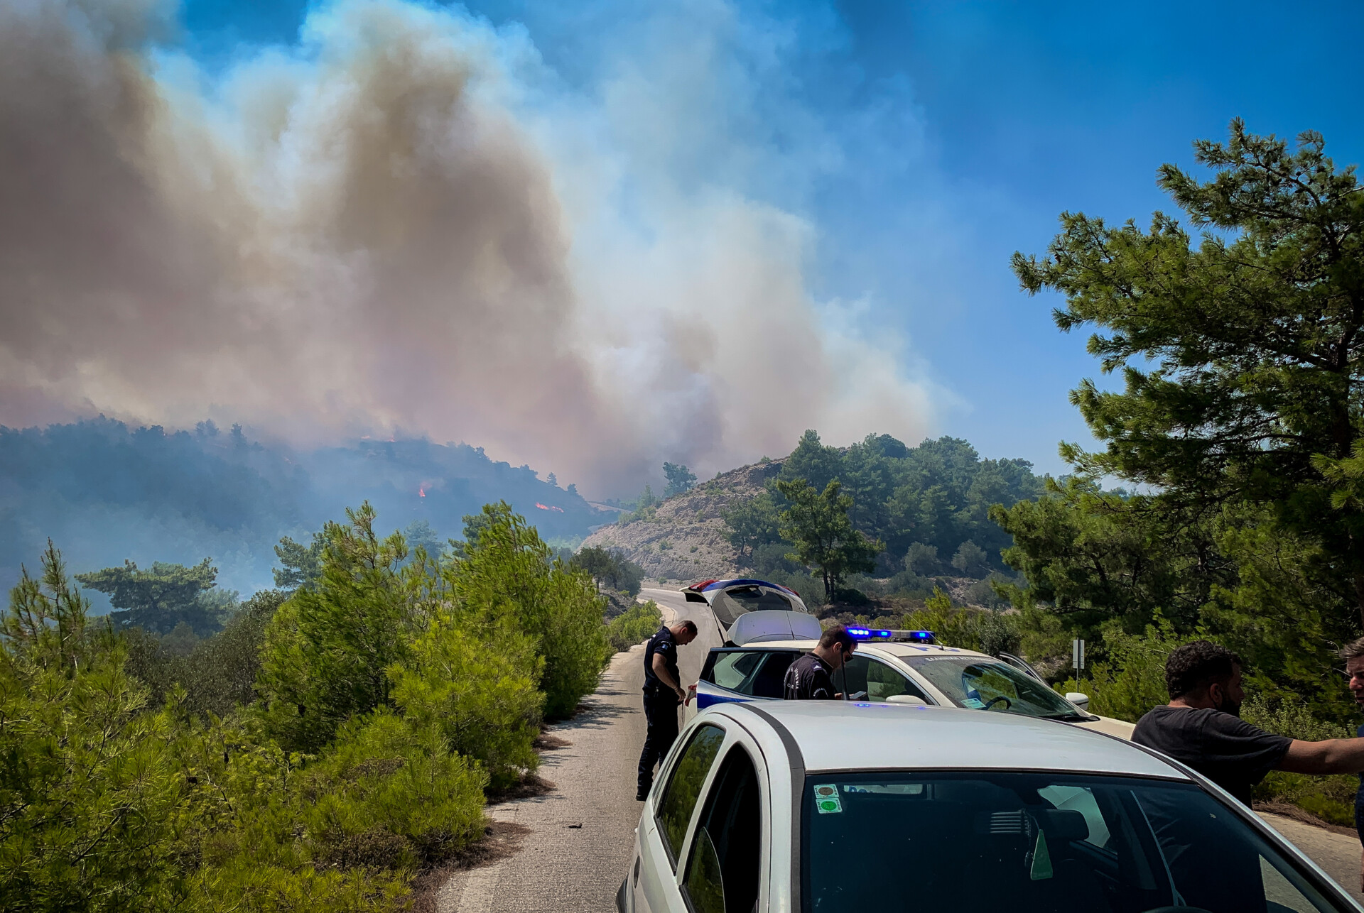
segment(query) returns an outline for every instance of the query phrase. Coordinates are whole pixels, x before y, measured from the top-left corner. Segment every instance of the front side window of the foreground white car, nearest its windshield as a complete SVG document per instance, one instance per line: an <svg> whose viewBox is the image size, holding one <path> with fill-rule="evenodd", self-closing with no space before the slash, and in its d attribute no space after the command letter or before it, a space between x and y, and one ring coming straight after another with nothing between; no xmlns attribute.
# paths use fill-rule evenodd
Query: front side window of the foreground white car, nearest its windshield
<svg viewBox="0 0 1364 913"><path fill-rule="evenodd" d="M701 807L682 888L697 913L752 910L762 869L761 784L742 747L724 756ZM723 901L716 903L716 899Z"/></svg>

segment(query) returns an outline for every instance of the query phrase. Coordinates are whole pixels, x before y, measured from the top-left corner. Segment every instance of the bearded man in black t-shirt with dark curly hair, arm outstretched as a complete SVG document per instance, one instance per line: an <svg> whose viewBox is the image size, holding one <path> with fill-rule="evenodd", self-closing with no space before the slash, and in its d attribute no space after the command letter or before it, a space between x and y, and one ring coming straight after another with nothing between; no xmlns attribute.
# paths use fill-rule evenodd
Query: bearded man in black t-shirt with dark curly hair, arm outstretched
<svg viewBox="0 0 1364 913"><path fill-rule="evenodd" d="M1241 658L1207 640L1185 643L1165 664L1170 703L1142 717L1132 741L1183 762L1247 805L1271 770L1299 774L1364 771L1364 739L1303 741L1240 718Z"/></svg>

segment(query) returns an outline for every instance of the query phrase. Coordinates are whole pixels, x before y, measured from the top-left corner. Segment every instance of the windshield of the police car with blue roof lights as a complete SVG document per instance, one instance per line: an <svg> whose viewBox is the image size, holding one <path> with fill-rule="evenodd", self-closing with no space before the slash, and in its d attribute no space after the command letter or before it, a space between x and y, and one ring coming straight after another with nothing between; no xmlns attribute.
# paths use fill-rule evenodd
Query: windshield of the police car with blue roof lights
<svg viewBox="0 0 1364 913"><path fill-rule="evenodd" d="M1046 719L1088 719L1088 714L1078 711L1046 684L998 660L937 654L906 657L904 661L958 707Z"/></svg>

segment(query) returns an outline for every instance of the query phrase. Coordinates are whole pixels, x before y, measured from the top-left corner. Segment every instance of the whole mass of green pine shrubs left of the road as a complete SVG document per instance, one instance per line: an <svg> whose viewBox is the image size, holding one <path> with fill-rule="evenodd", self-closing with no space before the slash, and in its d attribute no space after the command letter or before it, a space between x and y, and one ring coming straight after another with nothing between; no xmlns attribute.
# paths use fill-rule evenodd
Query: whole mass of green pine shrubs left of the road
<svg viewBox="0 0 1364 913"><path fill-rule="evenodd" d="M484 514L442 560L349 511L188 657L90 620L49 544L0 621L0 909L405 909L607 655L592 578Z"/></svg>

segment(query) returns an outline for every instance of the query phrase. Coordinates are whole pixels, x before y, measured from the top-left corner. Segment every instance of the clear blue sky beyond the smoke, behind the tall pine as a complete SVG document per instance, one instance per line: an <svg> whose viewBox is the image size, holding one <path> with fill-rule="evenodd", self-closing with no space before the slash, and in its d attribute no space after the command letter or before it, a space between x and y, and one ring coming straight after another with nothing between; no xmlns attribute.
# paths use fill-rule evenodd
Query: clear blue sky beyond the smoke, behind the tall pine
<svg viewBox="0 0 1364 913"><path fill-rule="evenodd" d="M468 10L524 30L557 80L591 91L645 38L689 27L687 4L670 5L671 19L610 0ZM903 371L933 391L934 433L1061 471L1057 442L1090 440L1067 394L1097 368L1083 335L1053 326L1053 300L1018 290L1009 255L1042 252L1063 210L1144 223L1168 206L1157 166L1191 165L1191 142L1234 116L1256 132L1322 131L1337 164L1364 150L1364 5L1127 5L722 8L732 29L707 65L726 91L683 110L732 142L679 147L668 166L683 187L722 170L809 219L812 292L863 332L903 339ZM213 68L293 41L304 12L187 0L183 42Z"/></svg>

